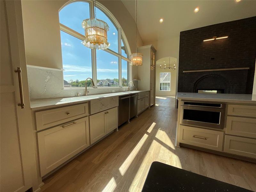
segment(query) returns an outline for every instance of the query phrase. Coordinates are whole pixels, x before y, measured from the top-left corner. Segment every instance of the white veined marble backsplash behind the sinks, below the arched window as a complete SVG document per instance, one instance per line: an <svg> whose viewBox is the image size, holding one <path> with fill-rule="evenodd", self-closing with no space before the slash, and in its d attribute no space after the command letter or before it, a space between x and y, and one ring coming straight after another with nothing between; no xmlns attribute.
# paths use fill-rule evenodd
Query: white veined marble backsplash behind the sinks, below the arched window
<svg viewBox="0 0 256 192"><path fill-rule="evenodd" d="M60 97L74 97L76 94L85 94L84 88L65 88L63 89L63 71L60 69L40 68L36 66L27 66L28 86L30 100L40 100ZM124 92L127 88L122 87L101 87L88 88L89 95ZM131 91L136 90L131 87Z"/></svg>

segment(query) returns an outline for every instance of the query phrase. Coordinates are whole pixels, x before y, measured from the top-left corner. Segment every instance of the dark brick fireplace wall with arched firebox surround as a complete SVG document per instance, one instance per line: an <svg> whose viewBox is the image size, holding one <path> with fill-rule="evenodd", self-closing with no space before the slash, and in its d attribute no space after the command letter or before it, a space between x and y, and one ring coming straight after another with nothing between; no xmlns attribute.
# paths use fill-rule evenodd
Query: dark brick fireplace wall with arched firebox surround
<svg viewBox="0 0 256 192"><path fill-rule="evenodd" d="M225 39L206 41L213 36ZM195 85L204 76L221 76L225 93L252 94L256 58L256 17L219 23L180 32L178 92L196 92ZM245 70L190 72L188 70L250 68ZM212 88L220 80L209 78ZM205 81L205 88L209 82ZM200 84L203 87L202 84ZM223 88L223 87L222 87Z"/></svg>

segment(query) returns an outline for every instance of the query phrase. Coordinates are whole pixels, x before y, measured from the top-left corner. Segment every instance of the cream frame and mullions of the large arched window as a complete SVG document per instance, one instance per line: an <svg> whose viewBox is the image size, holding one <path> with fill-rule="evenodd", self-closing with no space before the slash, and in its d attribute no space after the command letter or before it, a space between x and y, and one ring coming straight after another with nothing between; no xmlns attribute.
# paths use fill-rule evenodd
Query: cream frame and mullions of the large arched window
<svg viewBox="0 0 256 192"><path fill-rule="evenodd" d="M59 12L62 10L62 8L64 8L65 6L67 6L68 4L70 3L74 3L74 2L77 2L77 0L74 0L74 1L69 1L68 3L64 4ZM81 1L79 1L81 2ZM92 0L86 0L86 1L82 1L82 2L86 2L86 3L89 3L89 6L90 6L90 17L91 18L94 18L94 1ZM102 51L106 51L110 54L113 54L115 56L118 57L118 80L119 80L119 87L123 87L122 86L122 59L125 60L125 61L128 61L129 63L131 63L131 60L129 58L126 58L122 55L122 49L121 49L121 39L123 40L123 44L126 45L126 49L128 51L127 53L127 57L129 57L129 55L131 55L131 49L130 49L130 46L129 46L129 43L127 41L127 38L125 37L124 35L124 31L123 29L121 28L120 24L118 23L118 21L116 20L116 18L114 17L114 15L105 7L103 6L102 4L100 4L99 2L96 3L96 7L98 9L100 9L102 12L104 12L109 18L110 20L113 22L113 24L117 27L117 32L118 32L118 53L112 51L111 49L104 49ZM81 21L82 23L82 21ZM76 32L75 30L61 24L60 24L60 30L63 31L63 32L66 32L68 33L69 35L72 35L80 40L84 40L84 35ZM82 27L82 26L81 26ZM89 48L88 48L89 49ZM131 79L132 79L132 66L129 65L129 67L127 67L129 70L127 70L127 82L129 82ZM95 84L95 88L98 88L97 87L97 61L96 61L96 49L92 49L92 79L93 79L93 82ZM119 87L111 87L111 89L113 88L119 88ZM124 86L124 87L127 87L127 86ZM66 89L63 85L63 88ZM74 89L84 89L84 87L71 87L71 88L74 88ZM110 88L110 87L99 87L100 89L101 88ZM69 87L70 89L70 87Z"/></svg>

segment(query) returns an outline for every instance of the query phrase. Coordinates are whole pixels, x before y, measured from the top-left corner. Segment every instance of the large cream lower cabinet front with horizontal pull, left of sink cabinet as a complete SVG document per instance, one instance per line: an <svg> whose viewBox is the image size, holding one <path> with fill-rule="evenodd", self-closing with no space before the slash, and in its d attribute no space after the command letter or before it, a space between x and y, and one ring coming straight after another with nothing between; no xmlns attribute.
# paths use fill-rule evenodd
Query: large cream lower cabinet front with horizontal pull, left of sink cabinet
<svg viewBox="0 0 256 192"><path fill-rule="evenodd" d="M38 132L37 137L43 177L90 145L89 118Z"/></svg>

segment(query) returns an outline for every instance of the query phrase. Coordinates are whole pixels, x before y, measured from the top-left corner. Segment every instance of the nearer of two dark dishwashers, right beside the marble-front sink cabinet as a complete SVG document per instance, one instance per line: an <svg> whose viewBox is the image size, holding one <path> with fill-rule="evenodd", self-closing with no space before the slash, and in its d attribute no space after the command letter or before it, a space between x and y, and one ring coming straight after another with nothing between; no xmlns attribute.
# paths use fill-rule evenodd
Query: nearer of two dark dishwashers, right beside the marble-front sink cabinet
<svg viewBox="0 0 256 192"><path fill-rule="evenodd" d="M118 126L129 122L129 113L130 113L130 95L119 96L118 100Z"/></svg>

